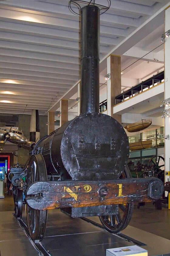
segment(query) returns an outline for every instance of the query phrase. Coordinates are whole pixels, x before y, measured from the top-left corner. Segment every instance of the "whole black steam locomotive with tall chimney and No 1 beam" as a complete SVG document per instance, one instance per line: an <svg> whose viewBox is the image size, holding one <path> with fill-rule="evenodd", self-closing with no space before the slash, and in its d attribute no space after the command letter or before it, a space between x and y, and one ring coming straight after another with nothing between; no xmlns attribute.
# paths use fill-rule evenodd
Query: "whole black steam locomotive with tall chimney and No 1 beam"
<svg viewBox="0 0 170 256"><path fill-rule="evenodd" d="M164 189L157 178L131 178L127 135L114 118L99 113L100 10L109 7L72 2L85 3L80 8L80 116L39 140L25 167L10 173L15 214L22 216L24 192L32 240L43 239L47 210L54 208L73 218L99 216L105 229L118 233L128 225L134 202L157 200Z"/></svg>

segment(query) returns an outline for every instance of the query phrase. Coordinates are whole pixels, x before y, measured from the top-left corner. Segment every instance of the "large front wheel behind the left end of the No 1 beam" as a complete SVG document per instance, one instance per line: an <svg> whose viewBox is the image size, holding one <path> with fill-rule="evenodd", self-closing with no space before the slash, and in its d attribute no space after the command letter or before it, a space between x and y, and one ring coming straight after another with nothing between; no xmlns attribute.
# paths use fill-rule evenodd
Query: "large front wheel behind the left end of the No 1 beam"
<svg viewBox="0 0 170 256"><path fill-rule="evenodd" d="M35 181L46 181L47 172L44 158L41 154L32 155L29 160L27 187ZM47 210L34 210L27 205L27 221L32 240L42 241L46 230Z"/></svg>

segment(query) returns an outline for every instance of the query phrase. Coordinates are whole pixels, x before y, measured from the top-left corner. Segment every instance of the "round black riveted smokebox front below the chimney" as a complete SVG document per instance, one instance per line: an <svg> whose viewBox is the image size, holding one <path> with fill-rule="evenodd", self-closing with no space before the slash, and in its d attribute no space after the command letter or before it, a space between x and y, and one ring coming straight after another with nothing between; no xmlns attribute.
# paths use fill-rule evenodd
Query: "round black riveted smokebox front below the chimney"
<svg viewBox="0 0 170 256"><path fill-rule="evenodd" d="M63 134L61 158L72 180L117 179L124 172L128 157L127 135L110 116L81 115Z"/></svg>

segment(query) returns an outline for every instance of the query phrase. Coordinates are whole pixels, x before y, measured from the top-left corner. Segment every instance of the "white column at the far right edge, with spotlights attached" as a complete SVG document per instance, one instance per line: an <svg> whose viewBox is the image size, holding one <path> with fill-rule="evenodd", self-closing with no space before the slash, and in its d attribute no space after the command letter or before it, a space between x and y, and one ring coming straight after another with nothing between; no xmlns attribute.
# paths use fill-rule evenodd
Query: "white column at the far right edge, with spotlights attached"
<svg viewBox="0 0 170 256"><path fill-rule="evenodd" d="M165 10L165 32L170 30L170 7ZM170 37L165 37L165 99L170 98ZM169 108L165 107L165 109ZM165 135L170 136L170 117L165 116ZM165 140L165 181L170 180L170 137Z"/></svg>

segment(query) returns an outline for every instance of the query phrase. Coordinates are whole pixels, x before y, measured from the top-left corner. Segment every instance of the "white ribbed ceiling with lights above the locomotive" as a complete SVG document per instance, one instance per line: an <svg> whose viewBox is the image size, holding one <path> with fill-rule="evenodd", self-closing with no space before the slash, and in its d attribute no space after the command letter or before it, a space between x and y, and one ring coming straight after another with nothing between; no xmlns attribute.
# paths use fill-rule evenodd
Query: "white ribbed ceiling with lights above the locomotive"
<svg viewBox="0 0 170 256"><path fill-rule="evenodd" d="M38 109L44 115L58 109L64 94L69 99L76 93L80 22L68 2L0 0L0 113L30 114ZM110 9L100 16L100 84L111 53L122 55L122 90L163 67L160 36L169 4L111 0Z"/></svg>

